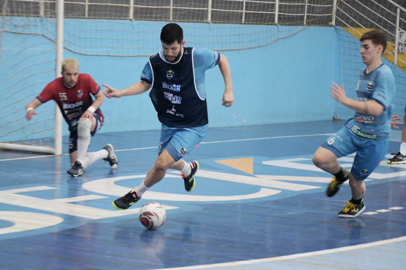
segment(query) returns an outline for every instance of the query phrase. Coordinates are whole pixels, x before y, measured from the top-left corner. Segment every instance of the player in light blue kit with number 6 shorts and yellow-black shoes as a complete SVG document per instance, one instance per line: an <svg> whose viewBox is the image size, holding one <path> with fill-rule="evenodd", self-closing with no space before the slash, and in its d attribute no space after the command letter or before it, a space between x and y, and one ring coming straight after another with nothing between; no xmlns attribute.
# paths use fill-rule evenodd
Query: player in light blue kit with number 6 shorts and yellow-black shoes
<svg viewBox="0 0 406 270"><path fill-rule="evenodd" d="M338 213L339 217L354 218L365 210L365 180L384 158L391 132L391 102L395 94L395 79L391 69L382 64L381 56L387 41L382 31L366 32L360 38L362 61L356 86L357 100L346 97L344 86L333 83L331 96L356 111L341 130L327 138L313 156L318 168L334 175L327 196L334 196L340 185L349 180L352 198ZM343 170L337 158L356 153L351 171Z"/></svg>

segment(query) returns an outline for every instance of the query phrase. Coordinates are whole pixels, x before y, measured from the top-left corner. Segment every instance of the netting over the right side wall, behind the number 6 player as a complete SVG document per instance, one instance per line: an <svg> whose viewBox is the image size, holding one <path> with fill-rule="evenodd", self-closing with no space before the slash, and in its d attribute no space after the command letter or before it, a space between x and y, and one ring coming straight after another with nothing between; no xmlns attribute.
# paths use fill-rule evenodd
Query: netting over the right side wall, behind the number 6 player
<svg viewBox="0 0 406 270"><path fill-rule="evenodd" d="M404 115L406 102L406 9L401 6L402 3L406 4L406 1L339 1L335 18L341 50L341 83L344 84L346 95L353 99L356 99L359 72L365 68L359 52L359 38L369 30L384 31L388 45L382 62L392 69L395 77L393 114L400 117ZM334 118L346 119L353 117L354 113L350 108L338 104Z"/></svg>

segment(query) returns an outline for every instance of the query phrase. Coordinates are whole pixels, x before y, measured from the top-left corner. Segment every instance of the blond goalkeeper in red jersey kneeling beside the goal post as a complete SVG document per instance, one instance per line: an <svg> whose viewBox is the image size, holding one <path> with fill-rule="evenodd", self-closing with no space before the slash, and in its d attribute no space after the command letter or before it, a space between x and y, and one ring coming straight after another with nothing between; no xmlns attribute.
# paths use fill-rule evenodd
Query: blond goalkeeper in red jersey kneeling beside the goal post
<svg viewBox="0 0 406 270"><path fill-rule="evenodd" d="M79 63L72 58L62 62L61 73L62 77L45 86L41 94L28 103L28 121L36 114L35 108L49 100L55 100L70 131L69 155L72 167L67 173L74 177L79 176L86 167L101 158L108 161L111 168L117 168L118 159L111 144L100 151L86 153L91 136L104 123L103 113L100 111L104 96L99 85L89 74L79 73Z"/></svg>

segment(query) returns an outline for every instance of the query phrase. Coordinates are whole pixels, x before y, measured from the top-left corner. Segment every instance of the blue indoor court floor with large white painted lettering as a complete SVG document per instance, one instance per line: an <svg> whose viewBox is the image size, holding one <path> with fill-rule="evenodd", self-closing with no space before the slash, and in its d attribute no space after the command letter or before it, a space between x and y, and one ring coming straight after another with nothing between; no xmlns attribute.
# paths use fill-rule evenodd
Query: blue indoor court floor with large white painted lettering
<svg viewBox="0 0 406 270"><path fill-rule="evenodd" d="M0 269L406 269L406 164L380 163L356 219L337 217L347 183L325 195L331 175L311 159L343 123L209 128L185 156L200 164L191 193L168 170L125 211L111 202L143 180L159 130L96 134L89 151L112 143L119 166L99 160L77 178L66 154L0 151ZM156 230L138 221L147 202L166 208Z"/></svg>

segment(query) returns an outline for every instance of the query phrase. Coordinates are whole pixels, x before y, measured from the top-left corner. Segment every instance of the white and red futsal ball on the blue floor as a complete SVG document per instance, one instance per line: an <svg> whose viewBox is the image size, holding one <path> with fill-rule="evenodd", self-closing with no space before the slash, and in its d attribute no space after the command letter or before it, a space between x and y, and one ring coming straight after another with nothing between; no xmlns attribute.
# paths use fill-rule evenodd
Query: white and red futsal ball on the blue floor
<svg viewBox="0 0 406 270"><path fill-rule="evenodd" d="M156 229L164 224L166 211L158 202L148 202L141 207L138 217L145 227L150 230Z"/></svg>

